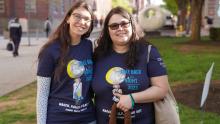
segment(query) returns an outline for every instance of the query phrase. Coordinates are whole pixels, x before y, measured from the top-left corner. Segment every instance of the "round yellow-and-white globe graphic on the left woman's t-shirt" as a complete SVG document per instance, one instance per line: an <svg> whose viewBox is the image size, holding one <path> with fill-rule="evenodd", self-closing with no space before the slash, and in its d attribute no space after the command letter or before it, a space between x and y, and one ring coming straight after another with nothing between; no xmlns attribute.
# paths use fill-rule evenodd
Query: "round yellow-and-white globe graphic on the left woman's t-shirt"
<svg viewBox="0 0 220 124"><path fill-rule="evenodd" d="M79 78L83 75L85 71L85 67L83 64L78 60L71 60L67 65L67 74L71 78Z"/></svg>

